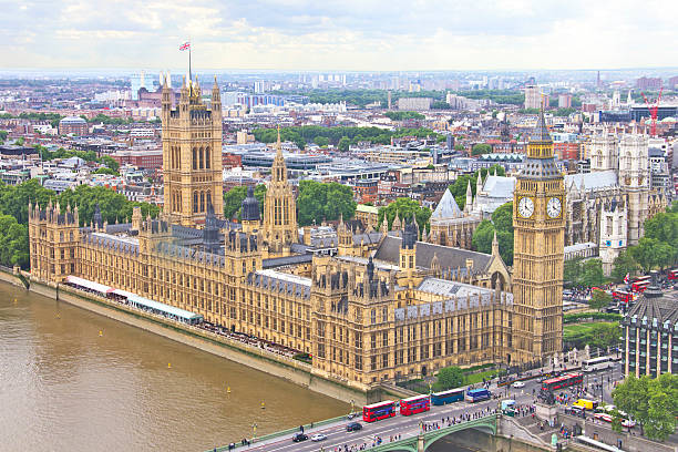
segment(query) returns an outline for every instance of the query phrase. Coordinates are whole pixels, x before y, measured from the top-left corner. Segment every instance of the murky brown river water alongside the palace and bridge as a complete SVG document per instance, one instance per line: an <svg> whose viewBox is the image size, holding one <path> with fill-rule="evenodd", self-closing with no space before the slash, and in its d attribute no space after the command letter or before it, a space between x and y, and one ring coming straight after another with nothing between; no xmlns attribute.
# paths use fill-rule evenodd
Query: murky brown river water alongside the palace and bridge
<svg viewBox="0 0 678 452"><path fill-rule="evenodd" d="M4 282L0 345L0 451L205 451L251 438L254 423L260 435L350 409ZM469 450L451 438L431 448Z"/></svg>

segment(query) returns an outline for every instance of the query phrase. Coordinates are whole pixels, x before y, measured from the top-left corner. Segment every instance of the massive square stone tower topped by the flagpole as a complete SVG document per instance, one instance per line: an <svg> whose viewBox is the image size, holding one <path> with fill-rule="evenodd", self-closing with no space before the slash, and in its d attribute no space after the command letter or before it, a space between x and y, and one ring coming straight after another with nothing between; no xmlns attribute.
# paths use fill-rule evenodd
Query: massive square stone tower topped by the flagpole
<svg viewBox="0 0 678 452"><path fill-rule="evenodd" d="M201 86L184 79L178 105L172 109L172 90L163 83L164 207L172 223L205 224L208 206L224 215L222 157L222 100L214 79L212 104L201 99Z"/></svg>

